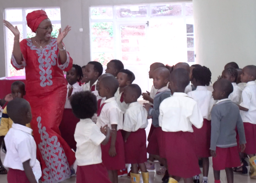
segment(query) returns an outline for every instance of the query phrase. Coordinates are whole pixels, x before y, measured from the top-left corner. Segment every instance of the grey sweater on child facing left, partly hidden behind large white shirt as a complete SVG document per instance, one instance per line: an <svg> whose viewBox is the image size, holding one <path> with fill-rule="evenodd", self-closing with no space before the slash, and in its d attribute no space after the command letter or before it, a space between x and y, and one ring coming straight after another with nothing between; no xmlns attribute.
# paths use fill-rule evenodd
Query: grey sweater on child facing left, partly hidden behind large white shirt
<svg viewBox="0 0 256 183"><path fill-rule="evenodd" d="M161 102L170 97L172 95L171 91L168 90L164 90L160 93L157 93L155 95L154 98L154 107L151 107L148 111L148 115L152 116L152 125L154 127L159 127L159 121L158 121L158 117L159 117L159 106L161 104Z"/></svg>

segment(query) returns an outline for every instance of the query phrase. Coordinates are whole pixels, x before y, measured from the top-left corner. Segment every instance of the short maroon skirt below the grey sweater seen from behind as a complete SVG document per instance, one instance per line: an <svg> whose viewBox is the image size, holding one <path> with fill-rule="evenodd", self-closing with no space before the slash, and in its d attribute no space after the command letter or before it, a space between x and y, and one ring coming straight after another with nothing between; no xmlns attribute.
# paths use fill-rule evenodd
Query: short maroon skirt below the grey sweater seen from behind
<svg viewBox="0 0 256 183"><path fill-rule="evenodd" d="M214 170L224 170L225 168L238 167L241 165L236 146L230 148L216 147L216 156L217 157L212 157L212 167Z"/></svg>

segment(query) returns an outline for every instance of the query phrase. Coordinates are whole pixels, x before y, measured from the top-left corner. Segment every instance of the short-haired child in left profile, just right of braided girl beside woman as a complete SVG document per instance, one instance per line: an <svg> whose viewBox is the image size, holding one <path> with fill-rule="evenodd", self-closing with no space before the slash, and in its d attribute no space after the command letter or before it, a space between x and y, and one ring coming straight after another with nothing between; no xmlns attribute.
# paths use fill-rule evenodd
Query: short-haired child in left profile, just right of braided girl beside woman
<svg viewBox="0 0 256 183"><path fill-rule="evenodd" d="M89 82L83 85L83 91L95 91L98 78L102 75L103 67L101 63L92 61L86 65L85 79Z"/></svg>

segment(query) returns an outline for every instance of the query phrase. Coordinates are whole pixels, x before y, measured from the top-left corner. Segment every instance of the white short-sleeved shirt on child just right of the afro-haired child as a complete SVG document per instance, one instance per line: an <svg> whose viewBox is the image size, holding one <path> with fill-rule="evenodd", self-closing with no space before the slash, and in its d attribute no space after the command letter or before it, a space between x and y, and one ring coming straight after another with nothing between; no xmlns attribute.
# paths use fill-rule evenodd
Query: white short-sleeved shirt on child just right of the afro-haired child
<svg viewBox="0 0 256 183"><path fill-rule="evenodd" d="M101 109L100 116L97 119L97 126L103 127L108 125L117 125L117 130L123 129L123 112L119 109L115 97L105 100L105 105Z"/></svg>

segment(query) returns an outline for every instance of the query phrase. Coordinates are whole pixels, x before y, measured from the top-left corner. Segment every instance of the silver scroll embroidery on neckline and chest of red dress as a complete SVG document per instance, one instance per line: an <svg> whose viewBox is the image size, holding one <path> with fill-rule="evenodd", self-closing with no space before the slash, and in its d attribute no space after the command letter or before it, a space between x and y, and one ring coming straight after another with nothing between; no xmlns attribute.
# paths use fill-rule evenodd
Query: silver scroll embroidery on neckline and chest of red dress
<svg viewBox="0 0 256 183"><path fill-rule="evenodd" d="M52 85L52 70L51 66L56 65L56 58L57 54L55 53L58 49L57 39L51 39L51 43L47 45L42 51L33 45L31 39L27 39L27 45L30 47L31 50L36 50L38 54L38 62L39 62L39 72L40 74L40 86L46 87ZM53 48L52 48L53 47ZM51 49L52 48L52 49ZM45 58L43 58L45 56ZM50 57L50 58L49 58ZM46 69L46 70L45 70ZM46 74L46 76L45 76Z"/></svg>

